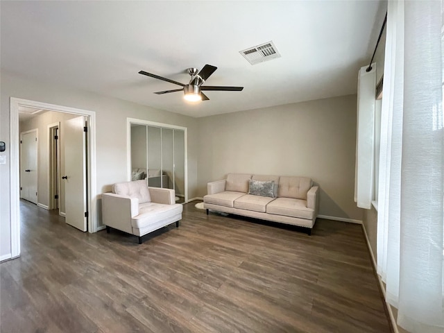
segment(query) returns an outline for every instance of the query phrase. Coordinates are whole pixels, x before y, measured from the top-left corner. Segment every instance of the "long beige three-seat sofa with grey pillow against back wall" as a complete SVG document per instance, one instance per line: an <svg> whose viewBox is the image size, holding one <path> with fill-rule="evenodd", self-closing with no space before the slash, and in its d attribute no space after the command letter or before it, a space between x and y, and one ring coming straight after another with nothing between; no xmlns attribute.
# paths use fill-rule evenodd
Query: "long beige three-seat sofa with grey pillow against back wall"
<svg viewBox="0 0 444 333"><path fill-rule="evenodd" d="M319 187L310 178L229 173L225 180L209 182L207 191L203 197L207 214L215 210L299 225L308 234L318 215Z"/></svg>

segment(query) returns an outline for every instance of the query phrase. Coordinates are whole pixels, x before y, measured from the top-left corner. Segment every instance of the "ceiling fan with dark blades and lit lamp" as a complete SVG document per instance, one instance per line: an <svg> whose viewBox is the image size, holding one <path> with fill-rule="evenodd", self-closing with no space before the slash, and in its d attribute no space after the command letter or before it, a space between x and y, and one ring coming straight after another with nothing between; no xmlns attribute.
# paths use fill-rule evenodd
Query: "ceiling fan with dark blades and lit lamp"
<svg viewBox="0 0 444 333"><path fill-rule="evenodd" d="M187 69L188 74L191 76L191 80L187 85L177 82L175 80L170 80L169 78L163 78L162 76L158 76L155 74L148 73L146 71L139 71L139 74L143 74L146 76L151 76L152 78L157 78L159 80L167 81L169 83L174 83L175 85L181 85L180 89L173 90L164 90L163 92L155 92L154 94L169 94L170 92L184 92L184 98L187 101L196 102L196 101L208 101L210 100L203 91L205 90L216 90L216 91L224 91L224 92L240 92L244 87L224 87L224 86L216 86L216 85L203 85L205 81L216 71L217 67L212 65L205 65L203 69L200 69L198 72L197 68L189 68Z"/></svg>

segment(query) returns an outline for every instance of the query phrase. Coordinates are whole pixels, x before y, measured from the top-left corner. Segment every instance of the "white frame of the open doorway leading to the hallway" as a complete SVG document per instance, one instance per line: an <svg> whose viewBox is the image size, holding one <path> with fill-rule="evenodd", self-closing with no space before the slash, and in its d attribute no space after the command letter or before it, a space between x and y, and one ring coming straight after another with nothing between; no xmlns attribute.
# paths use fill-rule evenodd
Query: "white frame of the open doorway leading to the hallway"
<svg viewBox="0 0 444 333"><path fill-rule="evenodd" d="M93 111L70 108L63 105L53 105L38 101L24 99L10 99L10 221L11 221L11 257L20 255L20 216L19 216L19 107L49 110L65 114L77 114L87 119L85 142L87 152L85 153L85 164L87 173L85 175L86 207L84 212L85 230L97 231L96 218L96 114ZM49 171L48 171L49 172ZM59 176L61 176L59 174ZM64 175L67 176L67 175ZM48 177L51 179L51 177ZM50 186L51 187L51 186ZM60 187L60 182L59 182ZM51 202L51 200L50 200ZM59 202L60 204L60 202Z"/></svg>

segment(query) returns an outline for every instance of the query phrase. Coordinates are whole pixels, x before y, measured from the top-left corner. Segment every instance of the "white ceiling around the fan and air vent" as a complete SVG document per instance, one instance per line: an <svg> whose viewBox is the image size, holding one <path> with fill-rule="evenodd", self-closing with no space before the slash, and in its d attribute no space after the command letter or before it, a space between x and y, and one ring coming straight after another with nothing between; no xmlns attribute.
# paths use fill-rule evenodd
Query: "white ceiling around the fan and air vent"
<svg viewBox="0 0 444 333"><path fill-rule="evenodd" d="M381 1L1 1L1 69L191 117L356 93L375 47ZM379 10L379 12L378 12ZM375 28L376 27L376 28ZM281 58L239 51L273 40ZM188 103L187 67L219 67Z"/></svg>

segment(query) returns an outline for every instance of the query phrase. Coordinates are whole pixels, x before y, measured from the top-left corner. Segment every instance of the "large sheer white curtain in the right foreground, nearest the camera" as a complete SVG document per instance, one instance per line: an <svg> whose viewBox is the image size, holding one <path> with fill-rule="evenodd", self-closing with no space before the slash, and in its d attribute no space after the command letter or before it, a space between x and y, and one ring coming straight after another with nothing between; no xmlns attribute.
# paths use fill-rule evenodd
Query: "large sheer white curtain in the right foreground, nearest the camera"
<svg viewBox="0 0 444 333"><path fill-rule="evenodd" d="M443 6L388 1L377 271L409 332L444 332Z"/></svg>

